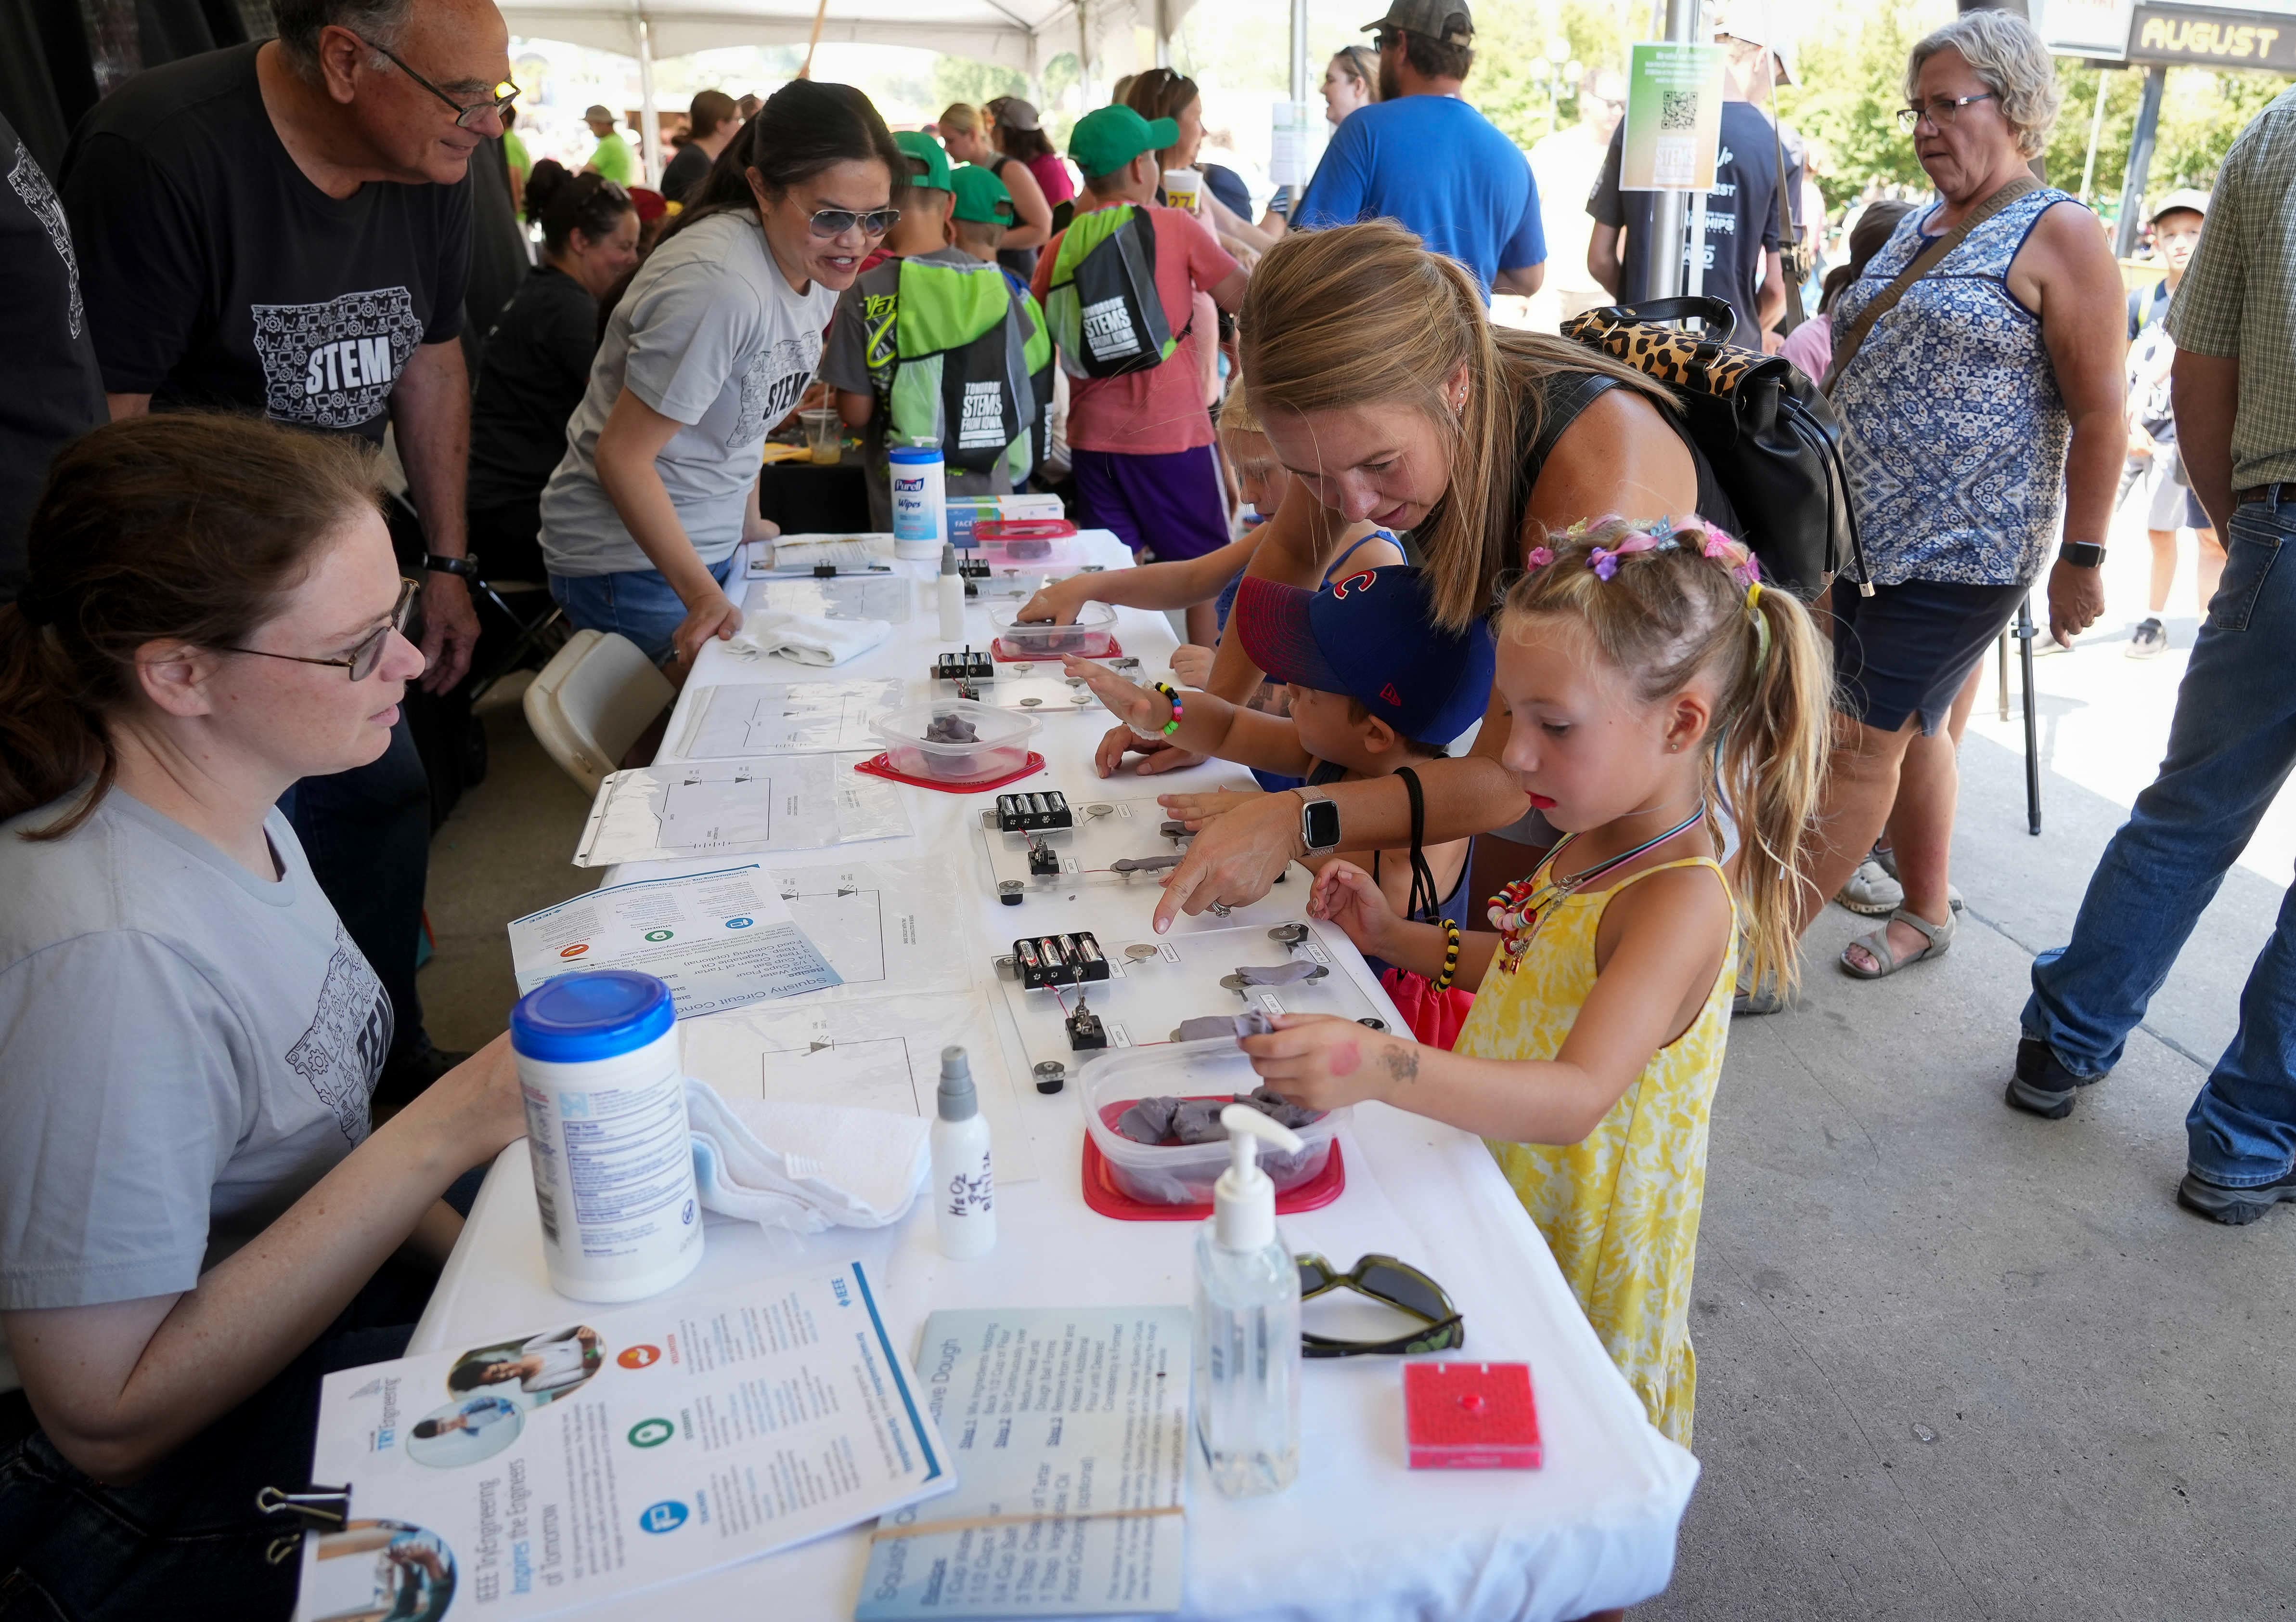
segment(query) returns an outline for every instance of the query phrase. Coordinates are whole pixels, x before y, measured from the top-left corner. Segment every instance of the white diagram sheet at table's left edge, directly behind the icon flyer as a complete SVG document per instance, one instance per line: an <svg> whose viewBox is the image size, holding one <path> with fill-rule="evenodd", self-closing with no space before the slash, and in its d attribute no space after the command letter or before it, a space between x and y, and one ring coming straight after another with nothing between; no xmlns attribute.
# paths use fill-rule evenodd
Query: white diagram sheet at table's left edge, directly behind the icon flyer
<svg viewBox="0 0 2296 1622"><path fill-rule="evenodd" d="M893 783L854 772L868 754L687 760L599 783L574 866L822 850L900 839L909 813Z"/></svg>

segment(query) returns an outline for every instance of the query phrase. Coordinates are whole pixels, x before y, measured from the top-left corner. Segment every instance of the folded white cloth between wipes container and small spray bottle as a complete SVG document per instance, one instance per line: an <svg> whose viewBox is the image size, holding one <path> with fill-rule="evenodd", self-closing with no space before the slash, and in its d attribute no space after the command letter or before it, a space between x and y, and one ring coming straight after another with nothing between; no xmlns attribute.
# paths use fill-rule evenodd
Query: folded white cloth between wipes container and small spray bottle
<svg viewBox="0 0 2296 1622"><path fill-rule="evenodd" d="M687 1123L703 1206L794 1234L900 1222L932 1163L918 1117L726 1098L691 1075Z"/></svg>

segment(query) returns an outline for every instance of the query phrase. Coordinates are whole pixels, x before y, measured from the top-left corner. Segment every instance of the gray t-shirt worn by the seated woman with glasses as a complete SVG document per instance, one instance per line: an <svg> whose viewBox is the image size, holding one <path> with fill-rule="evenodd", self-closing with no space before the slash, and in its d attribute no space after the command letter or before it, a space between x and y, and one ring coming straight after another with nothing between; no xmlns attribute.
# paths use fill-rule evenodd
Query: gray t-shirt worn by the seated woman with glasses
<svg viewBox="0 0 2296 1622"><path fill-rule="evenodd" d="M287 818L266 885L117 788L16 836L69 804L0 822L0 1312L193 1289L365 1142L390 1052Z"/></svg>

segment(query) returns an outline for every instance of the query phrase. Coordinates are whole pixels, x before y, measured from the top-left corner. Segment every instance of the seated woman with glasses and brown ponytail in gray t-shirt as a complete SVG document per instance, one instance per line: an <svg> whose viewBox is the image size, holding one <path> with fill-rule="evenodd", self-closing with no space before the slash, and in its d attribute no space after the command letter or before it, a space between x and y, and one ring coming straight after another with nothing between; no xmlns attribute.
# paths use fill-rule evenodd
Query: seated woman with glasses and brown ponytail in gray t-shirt
<svg viewBox="0 0 2296 1622"><path fill-rule="evenodd" d="M57 1615L287 1615L255 1491L526 1130L507 1038L370 1121L390 999L273 804L422 673L377 494L358 439L110 423L0 609L0 1594Z"/></svg>

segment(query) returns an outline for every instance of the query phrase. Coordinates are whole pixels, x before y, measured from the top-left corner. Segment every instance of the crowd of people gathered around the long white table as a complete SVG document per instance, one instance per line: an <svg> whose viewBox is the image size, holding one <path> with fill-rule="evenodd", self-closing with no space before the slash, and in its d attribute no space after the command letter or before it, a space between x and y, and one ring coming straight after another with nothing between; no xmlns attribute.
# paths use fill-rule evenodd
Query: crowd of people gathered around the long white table
<svg viewBox="0 0 2296 1622"><path fill-rule="evenodd" d="M0 193L32 395L0 423L0 1592L60 1615L287 1613L255 1489L308 1468L324 1372L404 1346L466 1174L523 1133L505 1038L436 1052L413 981L404 703L471 669L471 554L682 678L739 630L762 448L808 400L861 430L879 501L900 443L939 446L955 492L1065 455L1077 519L1139 567L1024 618L1100 600L1192 634L1178 687L1070 662L1118 719L1100 767L1261 781L1164 797L1196 839L1155 928L1316 868L1309 910L1412 1029L1293 1015L1244 1038L1254 1066L1311 1107L1483 1135L1683 1443L1731 1018L1791 1006L1837 894L1885 917L1844 974L1947 953L1975 666L2037 586L2060 643L2096 623L2131 459L2156 558L2195 528L2220 579L2161 779L2034 963L2014 1107L2064 1117L2112 1068L2296 763L2268 664L2296 616L2271 567L2296 535L2296 94L2213 193L2156 209L2170 278L2128 296L2094 216L2030 172L2048 51L1968 14L1906 64L1933 200L1869 207L1777 333L1802 230L1763 113L1782 57L1727 34L1708 287L1747 349L1823 381L1864 533L1805 602L1669 381L1492 322L1550 255L1531 165L1458 96L1463 0L1394 0L1332 60L1332 147L1258 218L1169 69L1065 154L1017 99L895 136L847 85L705 92L652 218L592 108L583 170L517 165L540 255L475 377L466 175L517 96L503 18L278 18L119 85L55 188L16 147ZM1573 299L1651 269L1603 101L1573 138L1598 287ZM2186 1206L2296 1197L2291 1032L2296 912L2193 1105Z"/></svg>

